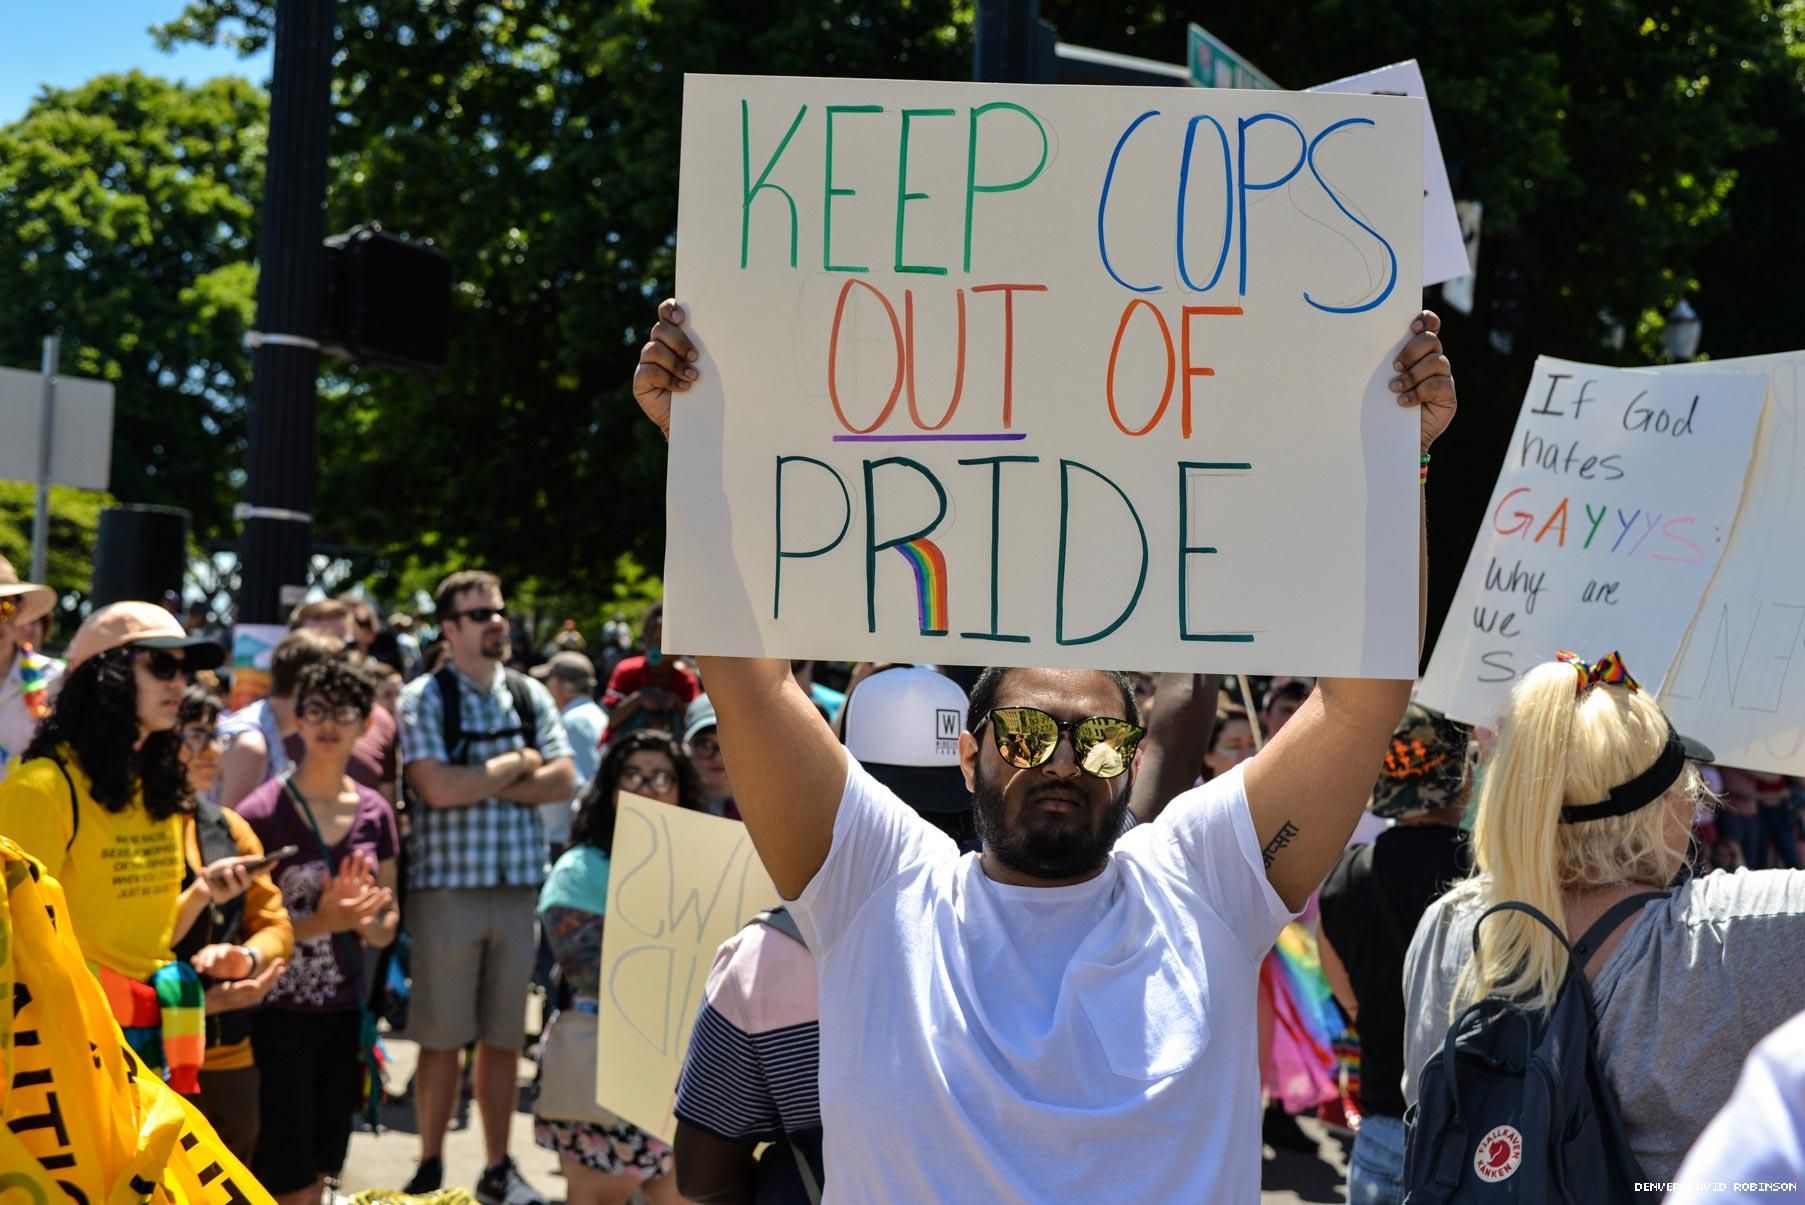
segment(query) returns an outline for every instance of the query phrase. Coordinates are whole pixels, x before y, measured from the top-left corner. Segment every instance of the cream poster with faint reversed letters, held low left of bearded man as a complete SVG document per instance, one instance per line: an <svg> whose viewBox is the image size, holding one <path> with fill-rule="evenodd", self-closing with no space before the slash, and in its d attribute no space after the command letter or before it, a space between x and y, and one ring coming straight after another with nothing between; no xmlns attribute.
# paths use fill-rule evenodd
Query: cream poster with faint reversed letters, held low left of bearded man
<svg viewBox="0 0 1805 1205"><path fill-rule="evenodd" d="M670 1142L715 951L782 898L745 824L625 792L608 869L596 1100Z"/></svg>

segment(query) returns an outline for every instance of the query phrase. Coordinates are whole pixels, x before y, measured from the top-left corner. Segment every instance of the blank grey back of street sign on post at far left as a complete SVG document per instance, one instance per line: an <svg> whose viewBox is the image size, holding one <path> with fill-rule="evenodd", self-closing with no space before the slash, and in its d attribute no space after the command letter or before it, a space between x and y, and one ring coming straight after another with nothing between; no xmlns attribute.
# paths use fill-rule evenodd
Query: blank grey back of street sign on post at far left
<svg viewBox="0 0 1805 1205"><path fill-rule="evenodd" d="M106 381L58 377L51 482L106 489L112 474L114 388ZM43 373L0 368L0 482L38 480Z"/></svg>

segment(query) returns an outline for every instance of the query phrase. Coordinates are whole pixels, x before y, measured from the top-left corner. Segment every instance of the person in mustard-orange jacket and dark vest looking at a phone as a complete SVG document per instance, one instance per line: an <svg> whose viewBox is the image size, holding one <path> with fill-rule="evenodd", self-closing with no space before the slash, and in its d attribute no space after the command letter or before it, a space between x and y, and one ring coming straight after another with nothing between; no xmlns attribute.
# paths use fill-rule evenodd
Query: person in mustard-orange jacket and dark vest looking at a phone
<svg viewBox="0 0 1805 1205"><path fill-rule="evenodd" d="M282 891L264 866L264 842L236 812L208 803L218 777L220 700L202 685L182 694L175 736L182 741L182 768L195 806L182 817L182 853L188 878L206 873L208 862L233 857L258 859L245 893L236 900L208 902L188 934L175 943L175 956L200 974L206 987L206 1061L195 1106L213 1122L220 1142L249 1165L256 1151L258 1072L251 1055L251 1008L276 987L294 952L294 925Z"/></svg>

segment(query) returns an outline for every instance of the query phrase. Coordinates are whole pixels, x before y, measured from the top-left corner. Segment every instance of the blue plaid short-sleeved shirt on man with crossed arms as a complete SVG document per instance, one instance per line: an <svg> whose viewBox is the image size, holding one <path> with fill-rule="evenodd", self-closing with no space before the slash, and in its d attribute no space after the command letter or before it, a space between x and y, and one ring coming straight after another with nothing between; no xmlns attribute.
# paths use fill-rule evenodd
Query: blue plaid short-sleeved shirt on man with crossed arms
<svg viewBox="0 0 1805 1205"><path fill-rule="evenodd" d="M502 732L520 727L507 675L500 667L487 689L453 669L464 732ZM570 741L551 691L525 680L538 713L532 741L547 761L570 756ZM401 691L401 759L444 765L480 765L489 758L523 749L520 736L466 738L453 761L444 738L444 698L433 676L410 682ZM467 808L417 808L408 837L408 888L536 888L545 878L545 830L532 805L484 799Z"/></svg>

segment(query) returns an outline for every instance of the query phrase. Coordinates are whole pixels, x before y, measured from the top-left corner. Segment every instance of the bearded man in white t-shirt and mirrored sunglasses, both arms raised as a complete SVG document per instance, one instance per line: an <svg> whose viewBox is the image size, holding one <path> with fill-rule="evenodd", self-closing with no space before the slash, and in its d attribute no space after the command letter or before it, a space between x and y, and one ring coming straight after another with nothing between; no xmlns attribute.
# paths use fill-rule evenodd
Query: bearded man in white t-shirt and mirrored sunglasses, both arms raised
<svg viewBox="0 0 1805 1205"><path fill-rule="evenodd" d="M659 319L634 393L670 435L700 370L679 305ZM1439 328L1421 314L1392 366L1424 458L1455 411ZM702 675L740 814L821 972L832 1196L1256 1198L1260 958L1354 830L1408 680L1323 678L1260 756L1117 841L1132 687L989 669L958 734L982 839L960 857L783 660L704 657Z"/></svg>

